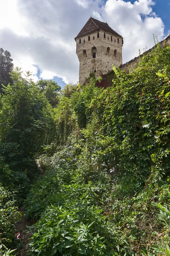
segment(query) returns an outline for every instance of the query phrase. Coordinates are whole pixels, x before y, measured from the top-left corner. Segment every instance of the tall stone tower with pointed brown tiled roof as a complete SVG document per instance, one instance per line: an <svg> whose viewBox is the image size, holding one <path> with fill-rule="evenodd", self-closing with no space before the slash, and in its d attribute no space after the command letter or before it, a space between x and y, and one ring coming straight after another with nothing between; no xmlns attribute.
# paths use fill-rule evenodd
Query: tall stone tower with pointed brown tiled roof
<svg viewBox="0 0 170 256"><path fill-rule="evenodd" d="M98 78L112 70L112 64L122 64L123 38L108 23L90 17L75 41L80 84L88 79L91 72L95 72Z"/></svg>

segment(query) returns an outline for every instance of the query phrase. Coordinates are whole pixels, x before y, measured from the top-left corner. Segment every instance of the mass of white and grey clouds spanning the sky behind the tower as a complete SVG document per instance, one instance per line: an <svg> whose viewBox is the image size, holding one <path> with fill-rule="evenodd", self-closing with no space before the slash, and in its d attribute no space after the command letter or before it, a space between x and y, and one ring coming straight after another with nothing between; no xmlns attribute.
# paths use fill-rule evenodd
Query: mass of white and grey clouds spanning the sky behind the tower
<svg viewBox="0 0 170 256"><path fill-rule="evenodd" d="M0 47L11 52L14 64L37 79L61 77L78 81L77 36L92 15L124 38L123 62L161 40L164 24L153 13L153 0L0 0Z"/></svg>

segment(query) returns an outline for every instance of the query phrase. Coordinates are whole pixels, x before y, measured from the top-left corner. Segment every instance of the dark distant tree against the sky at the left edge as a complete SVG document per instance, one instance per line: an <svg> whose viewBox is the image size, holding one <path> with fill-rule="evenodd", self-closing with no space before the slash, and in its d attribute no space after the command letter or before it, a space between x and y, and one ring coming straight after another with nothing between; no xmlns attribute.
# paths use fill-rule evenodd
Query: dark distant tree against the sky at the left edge
<svg viewBox="0 0 170 256"><path fill-rule="evenodd" d="M2 92L2 83L7 85L8 83L12 84L13 81L10 77L10 73L13 69L13 59L11 58L11 53L4 51L3 48L0 48L0 92Z"/></svg>

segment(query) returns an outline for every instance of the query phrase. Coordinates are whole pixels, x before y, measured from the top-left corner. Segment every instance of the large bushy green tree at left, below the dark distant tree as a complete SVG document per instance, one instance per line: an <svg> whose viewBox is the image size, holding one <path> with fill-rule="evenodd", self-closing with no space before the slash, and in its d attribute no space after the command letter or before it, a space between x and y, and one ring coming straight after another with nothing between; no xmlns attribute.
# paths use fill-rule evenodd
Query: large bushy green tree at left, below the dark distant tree
<svg viewBox="0 0 170 256"><path fill-rule="evenodd" d="M51 122L51 107L29 76L28 72L24 79L18 68L12 71L14 84L4 88L0 111L1 180L22 191L28 178L34 176L34 154L44 142Z"/></svg>

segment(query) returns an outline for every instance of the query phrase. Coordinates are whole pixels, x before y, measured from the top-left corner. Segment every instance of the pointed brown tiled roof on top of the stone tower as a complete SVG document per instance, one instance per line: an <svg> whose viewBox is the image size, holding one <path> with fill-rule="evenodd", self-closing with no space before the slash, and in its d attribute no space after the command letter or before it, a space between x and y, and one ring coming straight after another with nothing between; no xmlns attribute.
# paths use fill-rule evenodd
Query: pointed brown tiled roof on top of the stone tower
<svg viewBox="0 0 170 256"><path fill-rule="evenodd" d="M116 31L111 29L111 27L108 25L108 23L105 23L105 22L102 22L102 21L99 21L99 20L96 20L96 19L90 17L90 19L85 23L85 26L79 32L77 37L75 37L74 39L76 40L79 37L91 34L93 32L99 31L99 30L104 30L105 32L109 32L113 35L122 37Z"/></svg>

